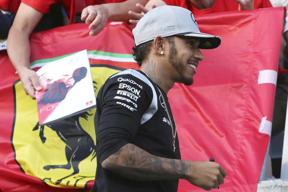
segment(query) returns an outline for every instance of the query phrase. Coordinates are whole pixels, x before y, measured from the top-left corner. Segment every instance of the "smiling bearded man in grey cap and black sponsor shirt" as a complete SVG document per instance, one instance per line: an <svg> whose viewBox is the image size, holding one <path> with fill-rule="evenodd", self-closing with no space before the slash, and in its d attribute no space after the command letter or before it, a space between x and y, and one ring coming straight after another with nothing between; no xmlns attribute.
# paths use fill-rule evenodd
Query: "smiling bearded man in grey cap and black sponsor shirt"
<svg viewBox="0 0 288 192"><path fill-rule="evenodd" d="M199 48L216 48L221 39L201 33L189 10L168 5L146 13L133 35L140 70L116 73L98 92L91 191L176 192L179 179L219 187L226 176L219 164L180 160L167 92L175 82L191 85L204 58Z"/></svg>

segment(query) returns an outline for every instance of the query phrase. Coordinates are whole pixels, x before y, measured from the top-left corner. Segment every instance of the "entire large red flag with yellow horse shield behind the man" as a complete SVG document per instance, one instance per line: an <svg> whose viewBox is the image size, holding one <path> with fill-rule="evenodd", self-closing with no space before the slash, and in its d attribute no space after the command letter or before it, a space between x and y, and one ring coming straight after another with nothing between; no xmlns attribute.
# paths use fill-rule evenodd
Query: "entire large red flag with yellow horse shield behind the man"
<svg viewBox="0 0 288 192"><path fill-rule="evenodd" d="M196 16L201 32L222 38L202 50L194 84L175 84L168 98L182 159L227 171L220 191L256 191L271 130L283 7ZM133 25L111 22L95 37L85 24L34 33L31 68L87 49L95 95L106 79L139 66ZM89 191L95 179L95 110L39 126L36 101L0 52L0 190ZM55 69L56 70L56 69ZM179 192L203 191L181 180Z"/></svg>

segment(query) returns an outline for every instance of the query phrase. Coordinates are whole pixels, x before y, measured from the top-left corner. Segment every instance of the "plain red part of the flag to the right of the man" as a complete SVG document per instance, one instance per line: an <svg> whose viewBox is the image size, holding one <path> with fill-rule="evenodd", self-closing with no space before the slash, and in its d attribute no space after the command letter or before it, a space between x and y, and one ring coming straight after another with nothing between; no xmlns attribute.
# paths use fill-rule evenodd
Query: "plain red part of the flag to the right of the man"
<svg viewBox="0 0 288 192"><path fill-rule="evenodd" d="M222 43L202 50L193 85L168 93L182 159L214 158L227 171L221 191L256 191L271 133L283 8L195 17L201 32ZM201 189L183 180L179 191Z"/></svg>

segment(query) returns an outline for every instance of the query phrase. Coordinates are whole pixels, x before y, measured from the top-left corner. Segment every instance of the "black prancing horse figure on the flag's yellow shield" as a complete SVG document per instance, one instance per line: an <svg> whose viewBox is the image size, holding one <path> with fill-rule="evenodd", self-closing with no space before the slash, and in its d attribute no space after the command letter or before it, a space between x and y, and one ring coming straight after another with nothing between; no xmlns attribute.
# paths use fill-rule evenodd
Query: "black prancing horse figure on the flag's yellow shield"
<svg viewBox="0 0 288 192"><path fill-rule="evenodd" d="M50 169L66 169L70 170L72 168L72 173L67 174L67 176L59 178L55 183L59 184L63 179L66 179L70 176L76 175L79 173L79 163L87 158L90 154L93 153L93 157L91 161L95 158L96 152L94 145L94 141L92 137L84 131L82 126L80 125L80 117L86 119L88 121L88 116L93 114L89 114L88 112L80 113L79 115L72 116L70 118L64 119L60 122L55 122L47 125L47 127L51 128L53 131L56 131L58 137L66 144L65 147L65 156L67 159L67 164L62 165L46 165L43 167L44 170L49 171ZM40 127L40 139L44 144L46 141L46 137L44 137L44 125L39 126L39 122L35 125L32 131L38 130ZM85 178L85 176L81 176ZM87 177L87 176L86 176ZM44 178L50 180L51 178Z"/></svg>

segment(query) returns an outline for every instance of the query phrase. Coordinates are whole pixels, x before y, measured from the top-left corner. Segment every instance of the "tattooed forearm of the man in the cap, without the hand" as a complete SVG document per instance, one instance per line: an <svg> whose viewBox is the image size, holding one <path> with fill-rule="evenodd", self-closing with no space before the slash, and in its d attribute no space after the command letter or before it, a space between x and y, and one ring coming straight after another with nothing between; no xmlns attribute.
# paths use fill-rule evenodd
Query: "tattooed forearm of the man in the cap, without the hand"
<svg viewBox="0 0 288 192"><path fill-rule="evenodd" d="M133 144L127 144L107 158L105 164L107 170L120 176L145 181L184 179L190 161L157 157Z"/></svg>

